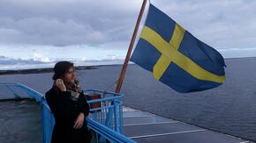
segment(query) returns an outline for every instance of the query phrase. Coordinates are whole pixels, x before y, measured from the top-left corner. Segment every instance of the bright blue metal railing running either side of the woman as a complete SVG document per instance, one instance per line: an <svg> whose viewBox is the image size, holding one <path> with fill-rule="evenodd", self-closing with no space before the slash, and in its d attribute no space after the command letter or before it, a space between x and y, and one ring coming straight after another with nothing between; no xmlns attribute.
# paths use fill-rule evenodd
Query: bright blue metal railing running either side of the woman
<svg viewBox="0 0 256 143"><path fill-rule="evenodd" d="M1 89L3 86L5 87ZM55 125L55 119L49 109L45 97L40 92L21 83L0 83L0 91L2 90L1 92L4 92L5 89L11 91L9 91L8 94L12 94L13 98L20 98L19 94L22 91L25 92L29 98L33 98L41 103L43 142L49 143ZM5 93L7 93L7 91ZM100 105L90 109L91 113L89 114L89 117L87 117L88 128L94 131L96 142L107 142L107 140L110 142L135 142L122 134L123 104L117 99L123 97L123 95L96 89L85 89L84 93L100 95L99 99L88 101L88 104L98 103L98 105ZM9 96L9 98L11 98L11 96Z"/></svg>

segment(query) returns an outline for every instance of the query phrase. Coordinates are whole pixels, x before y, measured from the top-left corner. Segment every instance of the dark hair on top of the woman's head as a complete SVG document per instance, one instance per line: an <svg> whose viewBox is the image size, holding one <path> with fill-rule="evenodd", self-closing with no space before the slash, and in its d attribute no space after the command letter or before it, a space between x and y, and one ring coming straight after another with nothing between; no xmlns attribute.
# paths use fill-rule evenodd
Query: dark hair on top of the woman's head
<svg viewBox="0 0 256 143"><path fill-rule="evenodd" d="M61 78L73 67L74 64L70 61L58 61L53 68L54 75L52 76L52 80L56 81L56 79Z"/></svg>

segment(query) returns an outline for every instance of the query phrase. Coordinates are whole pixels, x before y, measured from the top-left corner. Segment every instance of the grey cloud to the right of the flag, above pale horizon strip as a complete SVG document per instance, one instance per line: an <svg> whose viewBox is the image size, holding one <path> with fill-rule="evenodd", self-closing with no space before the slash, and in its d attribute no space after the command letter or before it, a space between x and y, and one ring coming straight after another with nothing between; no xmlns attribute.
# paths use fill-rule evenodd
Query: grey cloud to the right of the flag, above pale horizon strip
<svg viewBox="0 0 256 143"><path fill-rule="evenodd" d="M215 48L256 47L256 1L155 1L194 36Z"/></svg>

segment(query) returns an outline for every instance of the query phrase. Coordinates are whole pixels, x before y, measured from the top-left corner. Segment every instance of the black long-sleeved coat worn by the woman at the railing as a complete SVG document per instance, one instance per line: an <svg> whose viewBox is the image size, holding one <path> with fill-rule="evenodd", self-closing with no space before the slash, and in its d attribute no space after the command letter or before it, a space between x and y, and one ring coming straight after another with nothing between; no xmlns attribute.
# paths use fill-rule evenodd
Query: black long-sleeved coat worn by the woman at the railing
<svg viewBox="0 0 256 143"><path fill-rule="evenodd" d="M89 114L89 106L84 93L81 93L78 101L72 101L70 92L59 91L59 94L56 94L54 87L52 87L46 92L45 97L56 121L51 143L90 142L91 134L87 129L86 118L81 128L73 128L80 112L83 112L85 117Z"/></svg>

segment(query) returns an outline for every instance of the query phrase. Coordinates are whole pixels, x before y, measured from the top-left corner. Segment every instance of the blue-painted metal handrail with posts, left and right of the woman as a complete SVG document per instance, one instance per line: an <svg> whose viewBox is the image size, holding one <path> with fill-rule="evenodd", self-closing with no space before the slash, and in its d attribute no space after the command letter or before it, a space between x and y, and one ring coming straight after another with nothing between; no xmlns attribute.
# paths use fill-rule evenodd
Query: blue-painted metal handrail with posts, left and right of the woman
<svg viewBox="0 0 256 143"><path fill-rule="evenodd" d="M42 95L40 92L31 89L27 87L26 85L23 85L19 82L8 82L8 83L0 83L0 85L5 85L5 86L17 86L20 89L23 89L26 91L27 95L30 98L35 99L37 102L41 103L41 119L42 119L42 135L43 135L43 142L44 143L49 143L51 139L51 133L53 130L53 127L55 125L55 119L53 117L52 112L49 109L49 105L46 102L45 96ZM90 100L87 101L88 104L93 104L93 103L104 103L111 101L111 105L109 106L102 106L101 108L95 108L95 109L90 109L90 111L102 111L103 113L104 110L108 110L109 112L109 117L106 116L105 118L105 124L102 124L101 122L98 122L97 120L99 117L97 117L97 113L91 113L91 116L94 118L86 118L87 120L87 125L89 129L92 129L97 137L98 134L101 135L101 139L97 141L102 141L106 142L106 140L109 140L110 142L127 142L127 143L134 143L135 141L132 139L129 139L125 137L123 134L123 114L122 114L122 102L117 100L123 95L114 93L114 92L109 92L109 91L104 91L104 90L99 90L99 89L85 89L84 91L93 91L102 93L104 95L109 94L112 95L113 97L104 97L101 99L95 99L95 100ZM14 91L12 91L14 92ZM19 96L19 94L18 94ZM113 111L113 116L115 118L115 125L113 125L113 118L111 115L111 111ZM94 120L95 119L95 120ZM110 123L110 124L109 124ZM109 125L109 126L108 126ZM112 127L111 127L112 126Z"/></svg>

